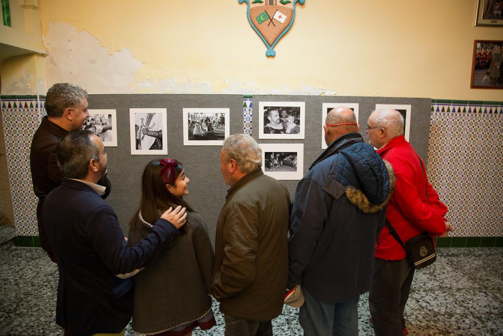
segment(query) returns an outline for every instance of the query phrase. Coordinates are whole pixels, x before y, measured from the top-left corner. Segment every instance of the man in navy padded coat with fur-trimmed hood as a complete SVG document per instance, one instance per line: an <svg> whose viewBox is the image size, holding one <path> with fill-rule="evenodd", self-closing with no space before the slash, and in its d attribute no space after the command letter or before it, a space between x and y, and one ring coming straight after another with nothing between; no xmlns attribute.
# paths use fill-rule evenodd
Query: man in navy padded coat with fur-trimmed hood
<svg viewBox="0 0 503 336"><path fill-rule="evenodd" d="M358 335L358 299L370 289L394 177L359 129L351 109L328 112L328 147L295 192L288 288L304 295L299 322L306 335Z"/></svg>

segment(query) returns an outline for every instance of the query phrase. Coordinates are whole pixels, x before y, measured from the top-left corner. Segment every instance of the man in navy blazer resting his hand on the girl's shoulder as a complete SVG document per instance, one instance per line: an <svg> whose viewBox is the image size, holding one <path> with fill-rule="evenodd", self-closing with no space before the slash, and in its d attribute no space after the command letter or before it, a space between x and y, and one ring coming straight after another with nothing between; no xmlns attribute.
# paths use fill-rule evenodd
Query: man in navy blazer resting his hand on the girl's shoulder
<svg viewBox="0 0 503 336"><path fill-rule="evenodd" d="M185 208L169 209L150 233L128 247L114 210L96 184L107 169L101 139L91 130L69 132L59 141L57 162L64 176L47 195L43 220L58 264L56 323L72 336L119 333L133 313L128 274L144 267L178 235Z"/></svg>

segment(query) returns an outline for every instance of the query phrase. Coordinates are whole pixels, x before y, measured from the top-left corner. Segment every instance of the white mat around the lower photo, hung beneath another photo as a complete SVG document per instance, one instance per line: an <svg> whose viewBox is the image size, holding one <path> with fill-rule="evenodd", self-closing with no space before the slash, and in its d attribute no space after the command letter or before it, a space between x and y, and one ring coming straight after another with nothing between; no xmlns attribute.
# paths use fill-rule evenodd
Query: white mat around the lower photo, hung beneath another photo
<svg viewBox="0 0 503 336"><path fill-rule="evenodd" d="M265 175L274 177L277 180L300 180L304 176L304 144L259 144L262 149L262 171ZM289 170L281 171L281 168L271 170L266 167L266 153L295 153L297 159L297 167L289 166ZM270 154L269 154L270 155ZM289 163L291 160L288 160ZM281 167L281 166L279 166ZM286 167L286 164L285 164ZM278 171L279 170L279 171Z"/></svg>

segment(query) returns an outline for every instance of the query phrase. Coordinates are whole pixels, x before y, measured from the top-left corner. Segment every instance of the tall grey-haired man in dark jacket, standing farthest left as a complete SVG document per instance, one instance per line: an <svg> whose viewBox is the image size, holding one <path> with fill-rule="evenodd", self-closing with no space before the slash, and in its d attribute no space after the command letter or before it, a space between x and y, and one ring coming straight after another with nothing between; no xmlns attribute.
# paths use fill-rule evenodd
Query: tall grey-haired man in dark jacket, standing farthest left
<svg viewBox="0 0 503 336"><path fill-rule="evenodd" d="M54 84L45 98L47 116L42 119L33 136L30 150L30 168L33 191L38 197L37 222L42 248L55 262L54 253L47 241L42 223L44 199L55 187L61 184L63 176L56 162L56 144L69 131L82 129L88 113L88 93L79 86L69 83ZM106 177L98 182L106 187L103 198L112 190L112 184Z"/></svg>

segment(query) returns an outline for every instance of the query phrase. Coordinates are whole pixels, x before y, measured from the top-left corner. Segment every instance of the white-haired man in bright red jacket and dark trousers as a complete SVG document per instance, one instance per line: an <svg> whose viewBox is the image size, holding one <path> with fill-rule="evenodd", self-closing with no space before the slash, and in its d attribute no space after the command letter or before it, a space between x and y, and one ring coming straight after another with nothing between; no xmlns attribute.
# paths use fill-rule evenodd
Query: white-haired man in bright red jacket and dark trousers
<svg viewBox="0 0 503 336"><path fill-rule="evenodd" d="M428 182L422 159L403 136L403 117L395 110L376 110L368 120L369 143L393 166L395 191L386 220L403 242L423 232L447 236L454 230L444 218L447 207ZM407 334L403 310L414 276L405 249L384 227L376 242L369 308L379 335Z"/></svg>

